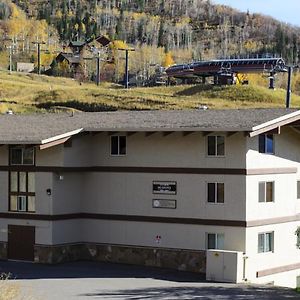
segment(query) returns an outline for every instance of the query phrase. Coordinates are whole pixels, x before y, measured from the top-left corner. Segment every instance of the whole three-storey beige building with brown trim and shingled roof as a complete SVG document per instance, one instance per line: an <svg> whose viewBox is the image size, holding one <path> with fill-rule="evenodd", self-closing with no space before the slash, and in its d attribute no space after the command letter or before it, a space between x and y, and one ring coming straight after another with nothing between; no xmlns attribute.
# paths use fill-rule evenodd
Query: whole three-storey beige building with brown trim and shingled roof
<svg viewBox="0 0 300 300"><path fill-rule="evenodd" d="M299 126L291 109L2 115L0 257L296 286ZM216 277L209 253L237 258Z"/></svg>

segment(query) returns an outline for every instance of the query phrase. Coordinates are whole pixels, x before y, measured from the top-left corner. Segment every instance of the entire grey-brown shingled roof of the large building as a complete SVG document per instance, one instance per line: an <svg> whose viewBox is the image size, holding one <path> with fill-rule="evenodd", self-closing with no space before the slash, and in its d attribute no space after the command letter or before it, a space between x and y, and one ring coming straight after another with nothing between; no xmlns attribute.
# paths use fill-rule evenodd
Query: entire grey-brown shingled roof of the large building
<svg viewBox="0 0 300 300"><path fill-rule="evenodd" d="M118 111L71 114L0 115L0 143L39 144L84 131L251 131L295 109ZM299 116L300 119L300 116Z"/></svg>

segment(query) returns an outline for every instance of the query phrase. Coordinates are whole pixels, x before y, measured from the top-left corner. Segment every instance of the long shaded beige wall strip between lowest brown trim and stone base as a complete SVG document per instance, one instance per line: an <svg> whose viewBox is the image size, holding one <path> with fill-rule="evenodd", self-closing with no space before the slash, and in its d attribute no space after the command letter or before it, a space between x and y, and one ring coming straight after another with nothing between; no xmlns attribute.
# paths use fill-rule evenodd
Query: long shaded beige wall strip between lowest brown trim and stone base
<svg viewBox="0 0 300 300"><path fill-rule="evenodd" d="M84 220L86 242L204 250L206 233L223 233L225 249L244 251L244 229L148 222ZM161 236L159 243L156 236Z"/></svg>

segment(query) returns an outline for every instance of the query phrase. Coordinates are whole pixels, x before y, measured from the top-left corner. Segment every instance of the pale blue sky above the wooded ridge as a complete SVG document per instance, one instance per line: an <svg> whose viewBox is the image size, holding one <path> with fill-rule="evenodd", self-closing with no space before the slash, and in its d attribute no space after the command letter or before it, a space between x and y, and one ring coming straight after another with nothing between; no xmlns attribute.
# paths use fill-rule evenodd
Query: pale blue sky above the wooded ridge
<svg viewBox="0 0 300 300"><path fill-rule="evenodd" d="M300 26L300 0L212 0L250 13L261 13Z"/></svg>

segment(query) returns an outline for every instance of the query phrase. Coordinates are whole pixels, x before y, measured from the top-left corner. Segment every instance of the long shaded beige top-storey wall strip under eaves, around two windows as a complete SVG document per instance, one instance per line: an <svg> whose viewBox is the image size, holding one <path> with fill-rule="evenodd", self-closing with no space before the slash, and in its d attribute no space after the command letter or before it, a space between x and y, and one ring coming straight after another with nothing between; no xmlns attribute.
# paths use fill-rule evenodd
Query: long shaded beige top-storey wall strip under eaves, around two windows
<svg viewBox="0 0 300 300"><path fill-rule="evenodd" d="M246 143L242 133L226 137L225 157L208 157L206 140L207 138L200 132L185 137L181 132L168 136L155 133L148 137L145 133L137 133L127 137L126 156L116 157L110 155L110 136L101 133L93 139L93 164L195 168L245 167Z"/></svg>

